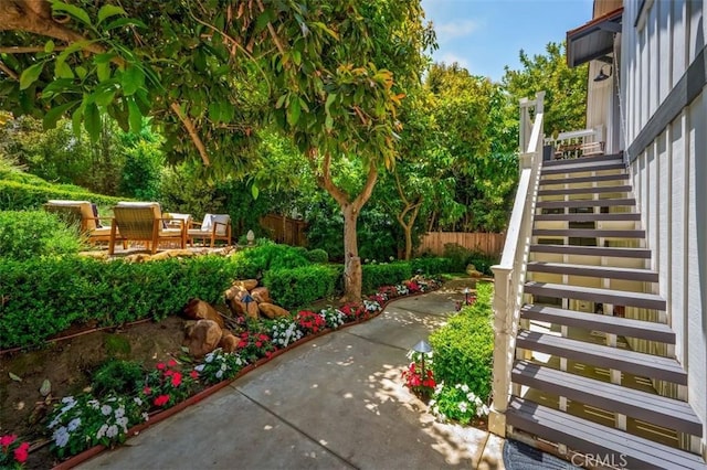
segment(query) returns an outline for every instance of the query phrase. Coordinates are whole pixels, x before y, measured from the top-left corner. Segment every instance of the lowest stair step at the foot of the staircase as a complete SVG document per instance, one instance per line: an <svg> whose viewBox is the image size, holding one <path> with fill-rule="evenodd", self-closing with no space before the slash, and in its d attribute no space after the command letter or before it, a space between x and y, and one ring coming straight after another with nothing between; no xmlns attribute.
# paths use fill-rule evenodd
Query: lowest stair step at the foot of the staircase
<svg viewBox="0 0 707 470"><path fill-rule="evenodd" d="M631 469L705 469L694 453L588 421L547 406L511 397L507 424L609 463ZM624 461L625 460L625 461Z"/></svg>

